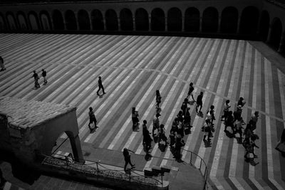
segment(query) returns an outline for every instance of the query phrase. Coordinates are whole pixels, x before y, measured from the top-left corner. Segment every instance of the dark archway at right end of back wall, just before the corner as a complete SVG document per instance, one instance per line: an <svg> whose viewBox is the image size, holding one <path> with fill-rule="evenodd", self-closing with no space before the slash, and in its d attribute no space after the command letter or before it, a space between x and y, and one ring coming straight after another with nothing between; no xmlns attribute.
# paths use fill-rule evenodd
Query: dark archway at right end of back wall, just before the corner
<svg viewBox="0 0 285 190"><path fill-rule="evenodd" d="M256 34L257 25L259 21L259 10L254 6L247 6L242 11L240 21L240 33L242 34Z"/></svg>

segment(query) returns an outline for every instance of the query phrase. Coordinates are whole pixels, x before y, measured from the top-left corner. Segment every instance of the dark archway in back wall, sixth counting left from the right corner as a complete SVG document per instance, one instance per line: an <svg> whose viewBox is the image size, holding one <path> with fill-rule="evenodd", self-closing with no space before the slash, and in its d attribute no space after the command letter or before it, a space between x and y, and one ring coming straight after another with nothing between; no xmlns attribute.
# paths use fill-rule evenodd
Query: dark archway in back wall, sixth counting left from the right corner
<svg viewBox="0 0 285 190"><path fill-rule="evenodd" d="M165 12L160 8L153 9L151 12L152 31L165 31Z"/></svg>

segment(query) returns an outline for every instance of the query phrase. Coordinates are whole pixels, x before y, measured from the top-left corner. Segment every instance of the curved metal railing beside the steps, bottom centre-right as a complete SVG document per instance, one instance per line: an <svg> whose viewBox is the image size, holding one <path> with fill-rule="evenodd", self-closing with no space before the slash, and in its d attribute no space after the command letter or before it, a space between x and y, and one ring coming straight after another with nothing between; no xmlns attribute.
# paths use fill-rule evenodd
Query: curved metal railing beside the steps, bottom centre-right
<svg viewBox="0 0 285 190"><path fill-rule="evenodd" d="M182 150L184 150L186 152L190 152L190 164L194 165L195 167L197 167L199 169L199 171L201 172L203 179L204 179L203 189L208 189L208 186L207 186L208 169L207 169L206 162L204 162L204 159L202 159L202 157L199 157L198 154L196 154L192 151L189 151L187 149L182 149ZM196 159L195 159L195 157L196 157ZM192 161L195 163L193 164ZM204 173L203 173L203 171L204 171Z"/></svg>

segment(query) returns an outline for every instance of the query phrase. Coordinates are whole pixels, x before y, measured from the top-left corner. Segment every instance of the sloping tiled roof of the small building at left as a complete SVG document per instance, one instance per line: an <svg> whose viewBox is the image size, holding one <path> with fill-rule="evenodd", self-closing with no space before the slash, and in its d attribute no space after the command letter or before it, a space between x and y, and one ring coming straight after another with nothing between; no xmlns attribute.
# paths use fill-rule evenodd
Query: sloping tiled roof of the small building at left
<svg viewBox="0 0 285 190"><path fill-rule="evenodd" d="M0 113L9 115L9 123L15 127L34 127L63 115L76 107L15 97L0 97Z"/></svg>

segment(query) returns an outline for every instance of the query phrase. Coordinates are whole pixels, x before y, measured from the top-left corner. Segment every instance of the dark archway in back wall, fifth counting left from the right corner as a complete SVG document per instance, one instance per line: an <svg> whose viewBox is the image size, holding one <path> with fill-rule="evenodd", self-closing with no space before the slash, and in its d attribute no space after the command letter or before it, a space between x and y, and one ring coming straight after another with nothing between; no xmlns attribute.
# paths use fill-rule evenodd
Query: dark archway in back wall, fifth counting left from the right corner
<svg viewBox="0 0 285 190"><path fill-rule="evenodd" d="M174 7L167 12L167 30L182 31L182 13Z"/></svg>

